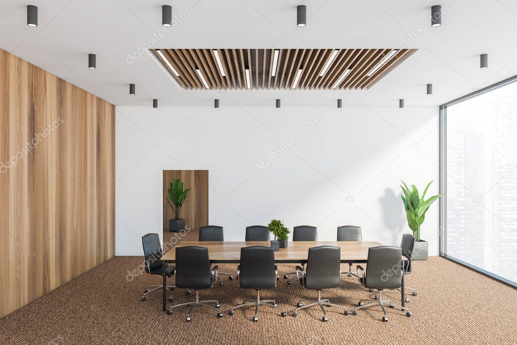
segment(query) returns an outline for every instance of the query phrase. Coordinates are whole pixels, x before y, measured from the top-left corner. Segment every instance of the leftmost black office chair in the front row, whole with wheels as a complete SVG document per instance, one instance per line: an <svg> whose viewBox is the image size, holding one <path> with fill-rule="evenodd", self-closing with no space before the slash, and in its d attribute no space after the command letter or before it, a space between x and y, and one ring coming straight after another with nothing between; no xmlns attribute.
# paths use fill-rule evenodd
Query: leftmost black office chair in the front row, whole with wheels
<svg viewBox="0 0 517 345"><path fill-rule="evenodd" d="M191 306L187 314L188 322L191 320L192 311L199 305L217 310L217 317L222 317L223 313L220 310L221 306L218 301L199 300L199 290L210 289L214 286L218 269L218 266L210 269L207 248L198 246L176 247L176 287L194 290L195 299L189 299L191 302L188 303L174 305L167 309L167 313L171 314L172 310L177 307ZM208 303L215 304L215 307Z"/></svg>

